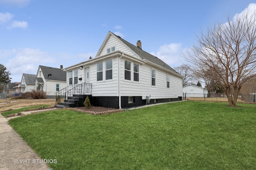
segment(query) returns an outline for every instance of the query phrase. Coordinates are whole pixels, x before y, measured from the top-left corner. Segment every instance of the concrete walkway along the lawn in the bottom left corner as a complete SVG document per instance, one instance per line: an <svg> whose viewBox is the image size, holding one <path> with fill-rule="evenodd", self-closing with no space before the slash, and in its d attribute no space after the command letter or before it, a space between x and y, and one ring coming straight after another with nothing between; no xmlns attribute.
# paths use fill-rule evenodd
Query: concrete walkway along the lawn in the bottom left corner
<svg viewBox="0 0 256 170"><path fill-rule="evenodd" d="M49 170L49 166L0 114L0 170ZM47 160L46 160L47 161Z"/></svg>

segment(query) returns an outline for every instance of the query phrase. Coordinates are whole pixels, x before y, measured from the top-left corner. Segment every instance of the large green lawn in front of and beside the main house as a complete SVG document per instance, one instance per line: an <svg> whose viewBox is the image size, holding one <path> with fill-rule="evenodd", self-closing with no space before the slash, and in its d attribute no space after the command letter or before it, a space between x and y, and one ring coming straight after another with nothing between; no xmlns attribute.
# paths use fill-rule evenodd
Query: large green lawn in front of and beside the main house
<svg viewBox="0 0 256 170"><path fill-rule="evenodd" d="M110 115L68 109L11 119L50 167L256 169L256 105L178 102Z"/></svg>

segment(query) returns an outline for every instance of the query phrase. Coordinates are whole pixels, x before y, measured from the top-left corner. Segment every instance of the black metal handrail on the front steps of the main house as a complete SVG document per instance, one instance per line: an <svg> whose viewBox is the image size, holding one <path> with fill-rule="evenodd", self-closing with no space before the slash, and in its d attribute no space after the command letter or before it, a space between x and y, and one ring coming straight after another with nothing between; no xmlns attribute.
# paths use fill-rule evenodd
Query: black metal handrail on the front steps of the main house
<svg viewBox="0 0 256 170"><path fill-rule="evenodd" d="M66 102L69 102L70 100L76 98L79 95L91 94L91 93L92 93L91 83L70 84L68 87L63 88L58 92L56 92L56 105L57 105L57 100L58 102L60 102L60 100L64 98L65 107L66 107ZM69 101L66 101L69 96L73 96L73 98L70 99Z"/></svg>

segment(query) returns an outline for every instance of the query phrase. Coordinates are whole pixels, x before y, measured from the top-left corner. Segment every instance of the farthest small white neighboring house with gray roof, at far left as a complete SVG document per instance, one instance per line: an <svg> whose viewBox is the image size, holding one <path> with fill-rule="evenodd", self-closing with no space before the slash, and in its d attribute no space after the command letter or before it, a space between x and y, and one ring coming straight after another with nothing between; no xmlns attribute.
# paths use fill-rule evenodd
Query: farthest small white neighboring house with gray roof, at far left
<svg viewBox="0 0 256 170"><path fill-rule="evenodd" d="M30 92L31 90L35 89L35 74L22 74L21 82L16 83L17 86L15 86L16 93L26 93Z"/></svg>

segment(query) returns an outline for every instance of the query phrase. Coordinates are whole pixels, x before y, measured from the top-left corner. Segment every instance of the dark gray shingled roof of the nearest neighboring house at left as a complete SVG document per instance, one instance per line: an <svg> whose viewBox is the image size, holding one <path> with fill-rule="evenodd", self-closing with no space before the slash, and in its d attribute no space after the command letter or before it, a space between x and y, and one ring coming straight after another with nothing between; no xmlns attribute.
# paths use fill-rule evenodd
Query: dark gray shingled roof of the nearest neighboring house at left
<svg viewBox="0 0 256 170"><path fill-rule="evenodd" d="M48 67L48 66L39 66L42 70L42 74L46 80L58 80L66 81L66 71L63 71L60 68ZM50 75L51 76L48 76Z"/></svg>

